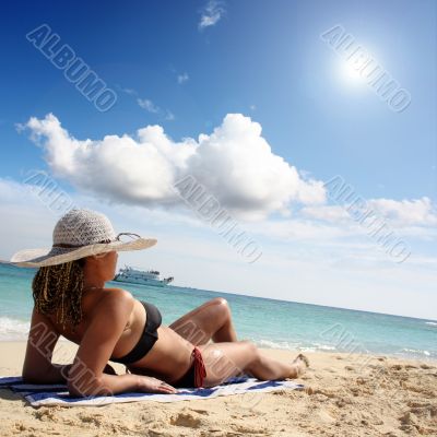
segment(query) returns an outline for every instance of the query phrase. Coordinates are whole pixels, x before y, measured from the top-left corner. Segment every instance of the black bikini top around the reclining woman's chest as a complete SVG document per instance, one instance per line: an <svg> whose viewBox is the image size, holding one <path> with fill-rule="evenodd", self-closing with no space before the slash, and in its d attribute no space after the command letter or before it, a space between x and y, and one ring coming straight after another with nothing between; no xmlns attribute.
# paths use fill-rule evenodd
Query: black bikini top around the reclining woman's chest
<svg viewBox="0 0 437 437"><path fill-rule="evenodd" d="M135 346L127 355L120 358L110 358L111 362L121 364L131 364L141 359L155 344L157 340L157 328L162 323L160 310L146 302L140 300L147 316L143 333Z"/></svg>

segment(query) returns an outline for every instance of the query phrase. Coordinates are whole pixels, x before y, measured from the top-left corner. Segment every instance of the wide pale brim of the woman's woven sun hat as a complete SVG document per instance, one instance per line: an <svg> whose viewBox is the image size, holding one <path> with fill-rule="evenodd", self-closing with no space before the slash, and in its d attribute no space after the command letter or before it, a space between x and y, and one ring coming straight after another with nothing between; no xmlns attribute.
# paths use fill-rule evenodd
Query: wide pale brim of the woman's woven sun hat
<svg viewBox="0 0 437 437"><path fill-rule="evenodd" d="M50 248L50 249L24 249L14 253L9 263L16 267L47 267L63 262L75 261L93 255L106 253L111 250L142 250L149 249L157 243L155 238L139 237L132 241L99 243L80 248Z"/></svg>

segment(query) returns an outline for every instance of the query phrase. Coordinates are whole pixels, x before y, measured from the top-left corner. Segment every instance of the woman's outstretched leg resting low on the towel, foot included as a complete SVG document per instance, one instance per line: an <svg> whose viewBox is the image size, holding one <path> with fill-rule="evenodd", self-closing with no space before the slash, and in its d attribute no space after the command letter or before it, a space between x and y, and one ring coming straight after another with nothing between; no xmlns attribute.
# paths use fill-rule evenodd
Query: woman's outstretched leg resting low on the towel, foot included
<svg viewBox="0 0 437 437"><path fill-rule="evenodd" d="M216 386L241 374L261 380L297 378L308 366L303 355L298 355L293 363L283 363L263 355L255 344L247 341L208 344L199 350L206 368L204 387Z"/></svg>

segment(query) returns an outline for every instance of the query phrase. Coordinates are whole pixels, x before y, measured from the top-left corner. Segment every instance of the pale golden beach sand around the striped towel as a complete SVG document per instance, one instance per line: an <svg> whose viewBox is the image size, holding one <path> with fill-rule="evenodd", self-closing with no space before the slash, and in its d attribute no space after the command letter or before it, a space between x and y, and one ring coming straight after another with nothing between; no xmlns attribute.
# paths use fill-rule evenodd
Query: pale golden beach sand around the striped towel
<svg viewBox="0 0 437 437"><path fill-rule="evenodd" d="M59 346L59 347L58 347ZM0 343L0 375L20 375L25 343ZM59 342L55 362L75 346ZM263 350L290 361L296 352ZM437 363L306 353L304 391L106 406L28 406L0 390L0 435L9 436L437 436ZM123 367L116 365L118 371Z"/></svg>

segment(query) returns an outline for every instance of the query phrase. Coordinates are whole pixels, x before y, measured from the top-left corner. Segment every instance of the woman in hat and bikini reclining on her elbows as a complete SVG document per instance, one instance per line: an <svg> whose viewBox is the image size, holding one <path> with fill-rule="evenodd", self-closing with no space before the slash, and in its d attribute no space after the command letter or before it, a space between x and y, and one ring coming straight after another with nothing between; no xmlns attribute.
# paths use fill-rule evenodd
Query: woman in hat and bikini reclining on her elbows
<svg viewBox="0 0 437 437"><path fill-rule="evenodd" d="M33 281L25 381L67 382L70 394L81 397L173 393L175 387L212 387L243 374L269 380L305 371L303 355L283 363L237 341L225 299L212 299L167 327L151 303L105 286L115 276L118 251L155 243L134 234L116 236L105 215L71 210L58 221L51 249L12 257L15 265L39 268ZM79 345L72 364L51 363L60 335ZM108 361L125 364L127 373L117 375Z"/></svg>

